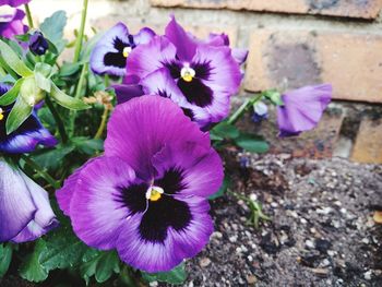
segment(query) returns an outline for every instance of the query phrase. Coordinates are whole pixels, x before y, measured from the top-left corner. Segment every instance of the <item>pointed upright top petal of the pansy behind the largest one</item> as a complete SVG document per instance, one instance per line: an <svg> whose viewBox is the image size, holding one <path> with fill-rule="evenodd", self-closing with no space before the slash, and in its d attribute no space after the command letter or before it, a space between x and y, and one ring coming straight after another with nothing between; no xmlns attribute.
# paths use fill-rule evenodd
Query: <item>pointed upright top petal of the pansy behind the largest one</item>
<svg viewBox="0 0 382 287"><path fill-rule="evenodd" d="M177 56L181 61L191 61L195 55L198 44L195 39L190 36L171 15L165 32L166 37L177 48Z"/></svg>

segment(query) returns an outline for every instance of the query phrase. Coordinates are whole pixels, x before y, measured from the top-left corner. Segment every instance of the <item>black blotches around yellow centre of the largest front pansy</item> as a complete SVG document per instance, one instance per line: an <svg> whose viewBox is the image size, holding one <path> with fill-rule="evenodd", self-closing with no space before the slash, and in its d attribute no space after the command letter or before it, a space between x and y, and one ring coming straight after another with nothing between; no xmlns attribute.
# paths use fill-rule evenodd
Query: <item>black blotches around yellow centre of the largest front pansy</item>
<svg viewBox="0 0 382 287"><path fill-rule="evenodd" d="M154 186L163 188L166 194L176 194L187 188L182 183L182 170L170 168L165 172L163 178L155 180ZM143 213L147 204L145 198L147 188L148 184L146 183L119 188L121 195L116 200L122 202L131 211L130 215ZM192 220L192 214L188 204L166 194L163 194L158 201L148 201L148 208L139 226L139 231L143 240L164 242L167 238L169 227L180 231L187 228Z"/></svg>

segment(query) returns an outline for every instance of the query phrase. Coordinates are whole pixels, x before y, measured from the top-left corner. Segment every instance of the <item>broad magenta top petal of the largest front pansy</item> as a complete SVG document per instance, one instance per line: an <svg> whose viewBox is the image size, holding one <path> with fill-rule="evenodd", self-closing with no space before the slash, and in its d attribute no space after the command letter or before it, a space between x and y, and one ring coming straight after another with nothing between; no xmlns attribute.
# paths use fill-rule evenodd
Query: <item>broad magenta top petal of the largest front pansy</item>
<svg viewBox="0 0 382 287"><path fill-rule="evenodd" d="M165 145L194 142L210 146L199 130L170 99L142 96L118 105L108 123L105 154L123 158L142 179L155 175L152 157Z"/></svg>

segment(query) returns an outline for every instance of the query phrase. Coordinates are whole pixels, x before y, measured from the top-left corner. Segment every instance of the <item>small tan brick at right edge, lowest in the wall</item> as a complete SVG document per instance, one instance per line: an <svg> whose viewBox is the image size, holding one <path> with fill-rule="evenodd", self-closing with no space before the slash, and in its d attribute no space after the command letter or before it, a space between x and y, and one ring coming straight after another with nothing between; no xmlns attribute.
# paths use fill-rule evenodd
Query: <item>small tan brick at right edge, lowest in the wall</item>
<svg viewBox="0 0 382 287"><path fill-rule="evenodd" d="M382 164L382 120L362 120L353 147L351 160Z"/></svg>

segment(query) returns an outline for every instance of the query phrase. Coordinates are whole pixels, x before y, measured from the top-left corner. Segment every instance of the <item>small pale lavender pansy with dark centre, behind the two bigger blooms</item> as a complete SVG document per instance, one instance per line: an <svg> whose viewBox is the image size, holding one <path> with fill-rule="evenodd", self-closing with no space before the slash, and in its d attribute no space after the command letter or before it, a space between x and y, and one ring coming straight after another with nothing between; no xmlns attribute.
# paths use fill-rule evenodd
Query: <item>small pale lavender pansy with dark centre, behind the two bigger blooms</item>
<svg viewBox="0 0 382 287"><path fill-rule="evenodd" d="M147 27L131 35L123 23L118 23L106 32L92 51L92 70L97 74L124 75L127 58L132 49L148 43L154 36L155 33Z"/></svg>

